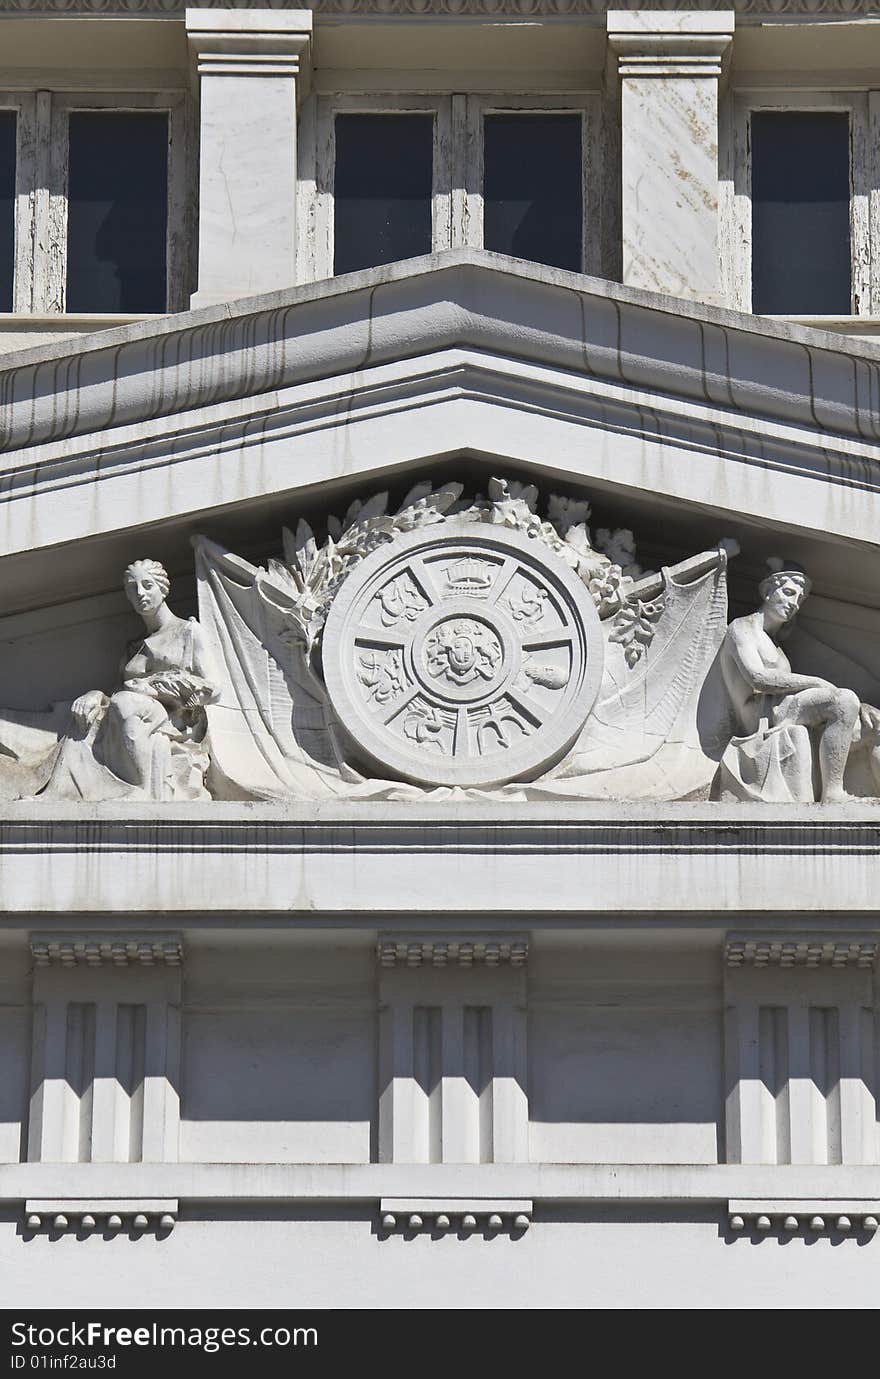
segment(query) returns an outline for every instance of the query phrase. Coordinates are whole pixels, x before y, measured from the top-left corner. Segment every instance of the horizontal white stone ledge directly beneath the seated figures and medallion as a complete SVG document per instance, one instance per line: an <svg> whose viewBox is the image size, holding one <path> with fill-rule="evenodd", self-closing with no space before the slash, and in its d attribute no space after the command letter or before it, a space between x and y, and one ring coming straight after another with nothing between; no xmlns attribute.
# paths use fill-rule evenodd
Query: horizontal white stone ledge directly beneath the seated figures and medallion
<svg viewBox="0 0 880 1379"><path fill-rule="evenodd" d="M470 928L481 914L486 931L532 929L548 914L557 925L650 914L756 936L794 927L825 940L840 927L840 938L873 940L880 811L28 801L0 811L0 914L25 931L50 917L62 931L109 924L121 936L152 923L179 928L182 916L208 928L243 916L317 927L346 916L379 932L400 928L400 916L406 929L436 932L441 916L458 929L461 916Z"/></svg>

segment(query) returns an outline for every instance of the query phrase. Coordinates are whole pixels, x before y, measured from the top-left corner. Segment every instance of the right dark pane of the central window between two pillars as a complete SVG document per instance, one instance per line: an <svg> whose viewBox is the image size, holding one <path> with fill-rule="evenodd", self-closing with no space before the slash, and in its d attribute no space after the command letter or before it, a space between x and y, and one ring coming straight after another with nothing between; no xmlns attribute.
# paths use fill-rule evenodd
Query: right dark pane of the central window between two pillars
<svg viewBox="0 0 880 1379"><path fill-rule="evenodd" d="M581 272L583 177L579 114L487 114L483 244Z"/></svg>

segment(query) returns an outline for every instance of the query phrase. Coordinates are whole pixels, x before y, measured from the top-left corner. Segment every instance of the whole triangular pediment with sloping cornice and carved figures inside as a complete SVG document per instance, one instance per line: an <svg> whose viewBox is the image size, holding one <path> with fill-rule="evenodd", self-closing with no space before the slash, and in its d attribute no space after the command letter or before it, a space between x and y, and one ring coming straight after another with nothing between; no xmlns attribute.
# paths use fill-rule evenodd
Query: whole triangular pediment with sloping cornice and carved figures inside
<svg viewBox="0 0 880 1379"><path fill-rule="evenodd" d="M873 798L879 364L476 252L22 354L1 790Z"/></svg>

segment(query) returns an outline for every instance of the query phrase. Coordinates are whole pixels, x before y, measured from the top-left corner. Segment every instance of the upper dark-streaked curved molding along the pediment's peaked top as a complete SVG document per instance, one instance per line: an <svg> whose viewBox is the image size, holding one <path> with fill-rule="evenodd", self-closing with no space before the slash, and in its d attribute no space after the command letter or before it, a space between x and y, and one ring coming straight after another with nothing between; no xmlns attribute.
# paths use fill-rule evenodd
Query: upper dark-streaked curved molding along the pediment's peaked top
<svg viewBox="0 0 880 1379"><path fill-rule="evenodd" d="M560 287L567 290L564 310L556 306L563 298ZM346 299L352 321L346 330L337 324L339 298ZM568 298L575 302L578 321L582 308L585 336L574 328ZM530 305L535 301L541 301L541 316ZM523 305L514 310L512 303ZM383 334L374 339L378 319ZM665 331L680 352L674 371L662 349ZM714 339L714 334L719 345L727 343L726 350L716 353L708 346L706 339ZM254 345L255 339L259 343ZM98 432L106 437L113 427L159 416L174 419L179 430L181 412L233 403L243 389L248 399L272 393L277 408L279 390L338 375L341 357L350 359L357 370L386 363L400 367L403 359L436 350L439 341L444 348L524 354L541 367L564 370L582 370L586 353L592 375L646 389L652 405L654 394L662 392L699 405L708 397L727 405L735 393L741 411L761 416L763 434L774 415L772 397L778 407L778 393L763 379L783 368L788 392L778 419L785 421L789 444L790 425L815 426L814 412L821 414L826 433L876 444L873 414L859 404L859 387L868 396L874 386L879 354L872 343L674 302L641 288L506 261L484 250L446 250L430 258L99 331L74 342L76 356L88 370L88 385L72 382L63 390L58 363L69 360L72 342L34 348L10 359L3 370L0 419L11 451L52 443L61 399L68 445L74 436ZM752 364L754 372L748 368L752 348L760 352ZM742 365L741 354L746 361ZM841 357L847 375L854 367L865 370L859 387L841 385ZM421 360L419 367L423 370ZM41 390L48 392L50 383L55 408L34 400ZM252 408L252 403L248 405ZM226 416L225 423L229 421ZM68 463L63 477L69 474ZM57 481L62 476L52 477ZM874 485L865 481L865 487Z"/></svg>

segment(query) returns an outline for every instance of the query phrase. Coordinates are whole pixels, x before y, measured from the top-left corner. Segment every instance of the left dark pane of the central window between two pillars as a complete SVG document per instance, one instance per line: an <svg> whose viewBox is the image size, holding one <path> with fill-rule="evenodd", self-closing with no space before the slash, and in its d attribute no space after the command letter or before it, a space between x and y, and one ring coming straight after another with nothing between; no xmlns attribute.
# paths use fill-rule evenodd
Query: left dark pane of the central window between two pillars
<svg viewBox="0 0 880 1379"><path fill-rule="evenodd" d="M337 116L334 272L432 250L432 114Z"/></svg>

